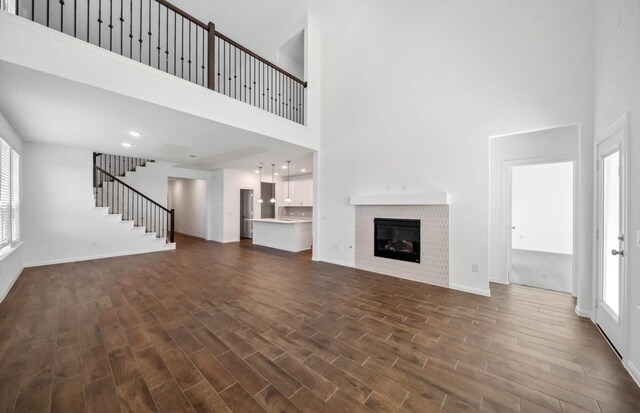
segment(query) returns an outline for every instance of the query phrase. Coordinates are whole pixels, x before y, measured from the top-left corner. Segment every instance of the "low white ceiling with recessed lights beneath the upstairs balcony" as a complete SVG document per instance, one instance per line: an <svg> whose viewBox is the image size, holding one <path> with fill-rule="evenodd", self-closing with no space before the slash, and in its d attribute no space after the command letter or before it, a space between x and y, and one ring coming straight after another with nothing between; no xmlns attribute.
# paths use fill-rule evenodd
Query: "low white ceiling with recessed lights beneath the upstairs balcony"
<svg viewBox="0 0 640 413"><path fill-rule="evenodd" d="M202 170L253 171L259 162L287 160L293 161L292 174L313 168L307 148L6 62L0 62L0 90L0 111L27 142Z"/></svg>

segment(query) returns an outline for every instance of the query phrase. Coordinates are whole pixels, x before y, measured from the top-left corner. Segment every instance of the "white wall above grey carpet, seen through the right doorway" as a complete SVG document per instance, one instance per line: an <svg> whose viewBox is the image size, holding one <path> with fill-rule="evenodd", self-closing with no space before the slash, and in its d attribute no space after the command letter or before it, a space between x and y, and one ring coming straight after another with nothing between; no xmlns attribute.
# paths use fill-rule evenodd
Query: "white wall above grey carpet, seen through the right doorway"
<svg viewBox="0 0 640 413"><path fill-rule="evenodd" d="M573 163L512 169L512 247L573 254Z"/></svg>

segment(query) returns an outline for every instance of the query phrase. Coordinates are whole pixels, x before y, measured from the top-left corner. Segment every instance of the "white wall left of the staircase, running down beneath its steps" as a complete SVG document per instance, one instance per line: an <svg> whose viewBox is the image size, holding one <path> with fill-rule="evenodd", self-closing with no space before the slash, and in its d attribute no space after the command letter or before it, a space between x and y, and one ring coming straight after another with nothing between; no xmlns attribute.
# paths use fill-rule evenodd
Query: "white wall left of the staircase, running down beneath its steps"
<svg viewBox="0 0 640 413"><path fill-rule="evenodd" d="M95 208L91 151L25 143L22 159L25 266L164 247L164 240L149 240L130 228L131 223Z"/></svg>

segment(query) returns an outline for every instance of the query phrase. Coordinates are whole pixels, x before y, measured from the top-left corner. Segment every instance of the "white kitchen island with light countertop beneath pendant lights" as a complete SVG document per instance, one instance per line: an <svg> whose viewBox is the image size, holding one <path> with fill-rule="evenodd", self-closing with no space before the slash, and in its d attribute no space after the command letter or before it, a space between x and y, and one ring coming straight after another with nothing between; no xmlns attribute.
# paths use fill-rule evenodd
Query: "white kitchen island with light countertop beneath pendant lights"
<svg viewBox="0 0 640 413"><path fill-rule="evenodd" d="M250 219L253 222L253 245L299 252L311 248L310 219Z"/></svg>

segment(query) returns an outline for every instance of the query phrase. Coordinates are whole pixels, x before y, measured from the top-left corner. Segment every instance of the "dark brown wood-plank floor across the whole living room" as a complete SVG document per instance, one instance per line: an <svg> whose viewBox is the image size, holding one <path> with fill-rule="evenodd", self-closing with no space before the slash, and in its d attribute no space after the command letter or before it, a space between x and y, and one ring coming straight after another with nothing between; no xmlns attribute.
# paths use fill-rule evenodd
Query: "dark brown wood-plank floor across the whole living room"
<svg viewBox="0 0 640 413"><path fill-rule="evenodd" d="M491 290L189 237L27 269L0 304L0 412L640 411L570 296Z"/></svg>

